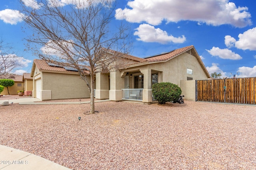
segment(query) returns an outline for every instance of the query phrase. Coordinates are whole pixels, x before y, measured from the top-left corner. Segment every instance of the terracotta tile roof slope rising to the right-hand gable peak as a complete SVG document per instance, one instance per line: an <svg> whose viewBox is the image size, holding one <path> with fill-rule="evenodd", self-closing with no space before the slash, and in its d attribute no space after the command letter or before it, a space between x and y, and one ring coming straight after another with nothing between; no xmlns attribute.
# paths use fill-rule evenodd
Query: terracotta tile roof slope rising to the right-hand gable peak
<svg viewBox="0 0 256 170"><path fill-rule="evenodd" d="M193 45L190 45L190 46L187 46L187 47L183 47L183 48L180 48L180 49L173 50L169 53L164 53L164 54L148 57L148 58L145 58L145 60L148 61L148 62L166 61L168 59L171 59L171 58L173 58L177 55L180 55L181 53L184 53L184 52L192 49L193 47L194 47Z"/></svg>

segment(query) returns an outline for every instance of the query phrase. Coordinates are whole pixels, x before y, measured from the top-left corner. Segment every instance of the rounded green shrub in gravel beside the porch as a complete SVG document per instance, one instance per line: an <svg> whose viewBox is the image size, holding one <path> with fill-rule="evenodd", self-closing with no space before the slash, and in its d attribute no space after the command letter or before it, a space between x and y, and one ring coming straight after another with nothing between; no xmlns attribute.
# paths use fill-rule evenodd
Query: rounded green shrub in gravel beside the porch
<svg viewBox="0 0 256 170"><path fill-rule="evenodd" d="M165 104L179 98L181 89L170 82L156 83L152 86L152 94L159 104Z"/></svg>

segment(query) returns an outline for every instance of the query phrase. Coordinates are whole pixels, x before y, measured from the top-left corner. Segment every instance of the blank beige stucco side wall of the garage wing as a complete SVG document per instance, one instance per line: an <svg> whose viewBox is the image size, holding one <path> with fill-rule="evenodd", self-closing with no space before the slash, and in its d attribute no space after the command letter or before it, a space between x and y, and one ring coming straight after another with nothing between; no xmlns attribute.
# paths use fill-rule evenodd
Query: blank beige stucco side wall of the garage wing
<svg viewBox="0 0 256 170"><path fill-rule="evenodd" d="M84 80L76 74L42 72L42 90L51 90L52 99L89 98ZM90 82L90 77L88 76Z"/></svg>

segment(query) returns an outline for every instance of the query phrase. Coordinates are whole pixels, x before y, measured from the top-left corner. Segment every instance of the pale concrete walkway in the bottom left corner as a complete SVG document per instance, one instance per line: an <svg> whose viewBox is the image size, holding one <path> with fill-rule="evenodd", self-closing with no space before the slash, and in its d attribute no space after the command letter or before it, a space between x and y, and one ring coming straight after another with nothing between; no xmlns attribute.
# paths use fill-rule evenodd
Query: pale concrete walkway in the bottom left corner
<svg viewBox="0 0 256 170"><path fill-rule="evenodd" d="M71 170L22 150L0 145L0 170Z"/></svg>

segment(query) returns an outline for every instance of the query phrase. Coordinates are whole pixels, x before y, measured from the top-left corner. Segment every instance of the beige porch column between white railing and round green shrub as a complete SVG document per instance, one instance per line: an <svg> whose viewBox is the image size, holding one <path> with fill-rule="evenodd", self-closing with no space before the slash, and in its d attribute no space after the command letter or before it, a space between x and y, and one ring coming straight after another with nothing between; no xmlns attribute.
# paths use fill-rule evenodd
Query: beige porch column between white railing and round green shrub
<svg viewBox="0 0 256 170"><path fill-rule="evenodd" d="M142 90L142 102L152 102L152 89L151 89L151 69L148 67L144 70L140 70L144 75L144 89Z"/></svg>

